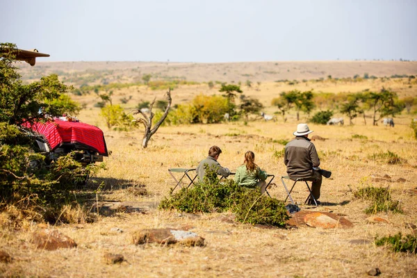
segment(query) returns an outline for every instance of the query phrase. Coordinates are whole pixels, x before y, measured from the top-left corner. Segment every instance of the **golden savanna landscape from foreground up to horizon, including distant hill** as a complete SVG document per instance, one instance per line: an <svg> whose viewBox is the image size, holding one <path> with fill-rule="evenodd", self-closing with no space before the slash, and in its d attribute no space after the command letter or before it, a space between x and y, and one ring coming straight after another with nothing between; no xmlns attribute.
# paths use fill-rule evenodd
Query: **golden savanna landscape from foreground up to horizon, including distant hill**
<svg viewBox="0 0 417 278"><path fill-rule="evenodd" d="M40 216L42 209L31 204L31 196L15 202L0 198L1 277L417 277L417 127L413 128L417 62L38 62L34 67L17 66L25 84L57 74L60 81L72 85L64 96L79 104L76 117L81 122L104 131L111 154L85 185L68 191L71 201L60 206L53 220ZM224 111L212 115L210 109L200 115L211 97L224 95L220 90L225 84L242 91L232 99L236 117L224 120ZM131 111L149 108L156 99L152 111L160 118L169 88L172 107L144 148L143 126L131 121L140 114ZM356 94L382 90L395 92L393 101L400 111L384 115L383 110L375 112L371 102L364 102L350 124L343 104ZM311 92L312 105L299 110L286 103L279 106L280 95L291 91ZM247 106L240 105L245 101L240 95L249 99ZM259 105L253 108L252 103ZM103 116L102 109L109 105L121 108L124 124ZM178 111L190 107L194 117L181 118ZM239 114L244 107L253 109ZM344 124L313 122L320 111L343 117ZM261 112L275 117L266 121ZM393 117L395 126L382 124L382 117ZM283 149L300 122L313 130L321 167L332 171L332 177L323 179L320 206L304 204L309 193L300 183L291 196L302 213L334 215L335 227L311 227L293 214L277 227L238 221L232 209L188 213L159 206L180 191L171 192L175 181L168 169L195 168L213 145L222 149L220 164L232 172L242 165L243 154L252 150L256 163L275 175L268 193L284 202ZM363 188L385 190L383 202L393 206L379 210ZM204 238L204 244L135 240L143 229L167 228L195 233ZM74 240L76 247L39 247L36 234L51 230ZM398 233L411 238L408 251L396 252L388 243L377 245L377 240Z"/></svg>

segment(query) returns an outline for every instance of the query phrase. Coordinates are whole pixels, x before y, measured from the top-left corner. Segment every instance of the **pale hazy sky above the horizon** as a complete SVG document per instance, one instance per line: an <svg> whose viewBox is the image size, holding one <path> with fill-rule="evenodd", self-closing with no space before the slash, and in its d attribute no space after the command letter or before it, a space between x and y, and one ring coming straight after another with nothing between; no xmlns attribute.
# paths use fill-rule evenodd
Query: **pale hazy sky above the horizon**
<svg viewBox="0 0 417 278"><path fill-rule="evenodd" d="M417 60L415 0L0 0L38 61Z"/></svg>

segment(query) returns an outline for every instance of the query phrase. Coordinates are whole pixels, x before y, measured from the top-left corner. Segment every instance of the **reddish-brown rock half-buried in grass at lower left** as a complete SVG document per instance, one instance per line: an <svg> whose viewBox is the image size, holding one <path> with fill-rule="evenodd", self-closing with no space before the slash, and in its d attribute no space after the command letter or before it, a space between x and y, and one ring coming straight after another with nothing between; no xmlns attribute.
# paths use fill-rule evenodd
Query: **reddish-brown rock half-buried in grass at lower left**
<svg viewBox="0 0 417 278"><path fill-rule="evenodd" d="M76 247L75 241L61 234L57 230L44 229L35 232L33 235L33 243L43 250L57 250L58 248L73 248Z"/></svg>

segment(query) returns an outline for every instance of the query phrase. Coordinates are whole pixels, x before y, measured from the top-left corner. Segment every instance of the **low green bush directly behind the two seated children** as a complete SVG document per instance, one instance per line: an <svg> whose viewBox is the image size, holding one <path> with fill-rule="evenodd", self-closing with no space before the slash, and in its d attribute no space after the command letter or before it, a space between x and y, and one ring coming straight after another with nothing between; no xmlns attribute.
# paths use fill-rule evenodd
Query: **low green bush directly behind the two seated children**
<svg viewBox="0 0 417 278"><path fill-rule="evenodd" d="M232 211L240 222L277 227L284 227L289 218L283 202L261 195L259 190L238 186L231 179L220 181L213 170L206 170L204 182L165 197L159 208L186 213Z"/></svg>

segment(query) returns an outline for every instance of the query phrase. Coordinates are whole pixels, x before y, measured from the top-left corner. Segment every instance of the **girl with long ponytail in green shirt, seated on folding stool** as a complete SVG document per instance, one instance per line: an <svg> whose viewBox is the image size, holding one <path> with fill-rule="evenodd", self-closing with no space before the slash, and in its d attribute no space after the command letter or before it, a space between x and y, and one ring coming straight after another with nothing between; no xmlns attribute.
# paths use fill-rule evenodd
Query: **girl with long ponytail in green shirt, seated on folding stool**
<svg viewBox="0 0 417 278"><path fill-rule="evenodd" d="M240 165L236 170L234 181L238 183L239 186L261 188L261 194L265 193L265 179L268 177L268 174L255 164L255 154L251 151L247 151L243 163L244 164Z"/></svg>

